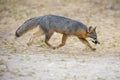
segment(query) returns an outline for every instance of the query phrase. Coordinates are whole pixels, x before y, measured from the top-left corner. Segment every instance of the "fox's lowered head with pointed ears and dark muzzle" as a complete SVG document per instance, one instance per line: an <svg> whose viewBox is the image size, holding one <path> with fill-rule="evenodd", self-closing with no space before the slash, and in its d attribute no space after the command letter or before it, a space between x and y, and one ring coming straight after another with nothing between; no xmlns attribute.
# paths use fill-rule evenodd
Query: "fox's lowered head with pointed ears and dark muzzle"
<svg viewBox="0 0 120 80"><path fill-rule="evenodd" d="M100 42L97 39L97 34L96 34L96 27L89 27L89 31L88 31L89 37L92 38L92 42L94 44L100 44Z"/></svg>

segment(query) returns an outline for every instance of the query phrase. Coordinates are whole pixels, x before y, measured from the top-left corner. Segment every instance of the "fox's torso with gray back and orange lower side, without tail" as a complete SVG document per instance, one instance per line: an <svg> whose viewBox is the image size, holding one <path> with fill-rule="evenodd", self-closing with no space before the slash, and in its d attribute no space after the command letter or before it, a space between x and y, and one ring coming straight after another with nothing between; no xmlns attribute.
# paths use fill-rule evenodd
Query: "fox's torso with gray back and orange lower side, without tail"
<svg viewBox="0 0 120 80"><path fill-rule="evenodd" d="M85 24L69 18L46 15L40 19L40 26L44 32L55 31L67 35L81 35L86 33L88 28Z"/></svg>

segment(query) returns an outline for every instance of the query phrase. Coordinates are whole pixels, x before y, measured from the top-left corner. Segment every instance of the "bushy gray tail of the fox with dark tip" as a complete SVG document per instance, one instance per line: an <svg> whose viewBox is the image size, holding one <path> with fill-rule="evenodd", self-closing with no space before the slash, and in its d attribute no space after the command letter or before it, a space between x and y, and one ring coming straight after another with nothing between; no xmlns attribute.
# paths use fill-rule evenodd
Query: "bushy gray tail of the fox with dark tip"
<svg viewBox="0 0 120 80"><path fill-rule="evenodd" d="M35 27L37 27L37 25L39 25L39 18L31 18L27 21L25 21L17 30L15 33L16 37L20 37L22 36L24 33L26 33L28 30L31 30Z"/></svg>

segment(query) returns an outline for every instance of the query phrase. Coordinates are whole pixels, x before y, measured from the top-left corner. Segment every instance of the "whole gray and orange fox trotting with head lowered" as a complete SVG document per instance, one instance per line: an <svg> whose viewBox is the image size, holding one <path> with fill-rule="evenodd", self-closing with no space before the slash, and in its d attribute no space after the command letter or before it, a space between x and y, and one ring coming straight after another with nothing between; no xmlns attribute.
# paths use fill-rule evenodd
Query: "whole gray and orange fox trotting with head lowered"
<svg viewBox="0 0 120 80"><path fill-rule="evenodd" d="M69 36L76 36L83 44L88 46L91 50L96 50L92 47L87 38L91 38L94 44L100 44L97 39L96 27L87 27L80 21L73 20L67 17L58 15L44 15L33 17L26 20L15 32L16 37L21 37L27 31L33 28L39 27L39 29L32 34L27 45L31 45L34 38L45 35L45 43L52 49L57 49L65 45ZM49 43L51 36L54 32L62 34L61 43L54 47Z"/></svg>

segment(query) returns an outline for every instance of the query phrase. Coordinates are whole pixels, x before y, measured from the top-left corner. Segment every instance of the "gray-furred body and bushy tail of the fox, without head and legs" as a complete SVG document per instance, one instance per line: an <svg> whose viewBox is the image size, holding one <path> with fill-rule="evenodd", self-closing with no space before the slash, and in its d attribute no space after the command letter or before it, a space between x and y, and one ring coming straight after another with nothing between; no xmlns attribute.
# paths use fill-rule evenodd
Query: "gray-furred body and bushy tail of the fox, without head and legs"
<svg viewBox="0 0 120 80"><path fill-rule="evenodd" d="M78 22L76 20L72 20L69 18L56 16L56 15L45 15L40 17L31 18L27 21L25 21L16 31L16 36L19 37L22 34L24 34L26 31L36 27L37 25L40 26L40 28L44 31L44 33L47 35L49 34L53 29L56 32L63 31L63 34L67 35L74 35L74 32L79 30L80 32L86 30L88 31L88 28L86 25L84 25L81 22Z"/></svg>

